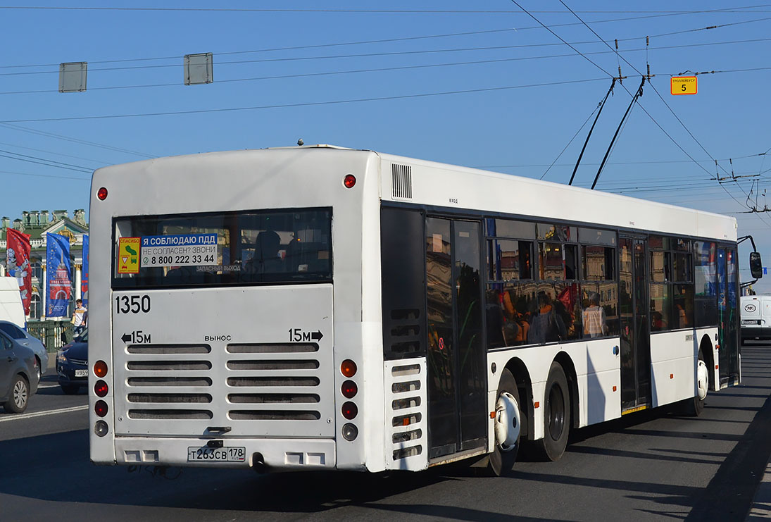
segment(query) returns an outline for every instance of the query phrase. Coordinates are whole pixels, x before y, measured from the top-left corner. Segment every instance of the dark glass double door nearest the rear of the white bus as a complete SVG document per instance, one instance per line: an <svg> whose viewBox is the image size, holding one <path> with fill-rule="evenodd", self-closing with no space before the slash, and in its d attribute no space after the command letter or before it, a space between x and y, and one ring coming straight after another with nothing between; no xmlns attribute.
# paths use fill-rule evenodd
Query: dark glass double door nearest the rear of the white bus
<svg viewBox="0 0 771 522"><path fill-rule="evenodd" d="M481 225L426 218L429 459L487 444Z"/></svg>

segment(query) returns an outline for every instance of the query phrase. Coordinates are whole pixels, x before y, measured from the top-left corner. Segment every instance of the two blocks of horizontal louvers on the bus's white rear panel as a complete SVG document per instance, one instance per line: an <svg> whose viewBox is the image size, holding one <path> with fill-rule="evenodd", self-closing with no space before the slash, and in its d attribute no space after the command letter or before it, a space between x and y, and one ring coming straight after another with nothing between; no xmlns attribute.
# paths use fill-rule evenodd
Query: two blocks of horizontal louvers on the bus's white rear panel
<svg viewBox="0 0 771 522"><path fill-rule="evenodd" d="M126 352L133 355L126 362L129 419L212 419L214 375L227 385L228 419L322 418L318 344L227 345L224 376L213 372L210 345L130 345Z"/></svg>

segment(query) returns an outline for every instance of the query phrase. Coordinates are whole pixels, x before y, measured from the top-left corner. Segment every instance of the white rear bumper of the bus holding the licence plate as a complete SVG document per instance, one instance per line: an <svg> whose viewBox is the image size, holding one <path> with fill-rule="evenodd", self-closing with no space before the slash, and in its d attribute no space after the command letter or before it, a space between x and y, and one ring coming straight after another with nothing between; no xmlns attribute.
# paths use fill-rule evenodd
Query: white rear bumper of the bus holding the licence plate
<svg viewBox="0 0 771 522"><path fill-rule="evenodd" d="M336 465L334 439L116 436L115 456L117 464L126 466L256 467L260 471L309 471L331 470Z"/></svg>

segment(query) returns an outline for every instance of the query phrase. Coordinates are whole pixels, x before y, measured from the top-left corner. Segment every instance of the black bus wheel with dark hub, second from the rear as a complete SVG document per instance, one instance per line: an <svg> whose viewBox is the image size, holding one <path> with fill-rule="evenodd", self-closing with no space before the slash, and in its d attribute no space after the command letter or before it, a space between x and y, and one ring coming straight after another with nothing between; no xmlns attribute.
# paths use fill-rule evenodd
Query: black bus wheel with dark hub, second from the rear
<svg viewBox="0 0 771 522"><path fill-rule="evenodd" d="M552 362L546 382L544 438L537 440L546 460L559 460L571 431L571 398L567 377L559 362Z"/></svg>

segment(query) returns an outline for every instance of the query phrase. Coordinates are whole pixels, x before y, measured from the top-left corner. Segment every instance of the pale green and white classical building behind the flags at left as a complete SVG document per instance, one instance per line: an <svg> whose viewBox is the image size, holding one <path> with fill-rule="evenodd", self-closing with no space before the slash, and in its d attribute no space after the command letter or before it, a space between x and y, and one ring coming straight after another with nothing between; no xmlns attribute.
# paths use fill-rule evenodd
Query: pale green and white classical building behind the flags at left
<svg viewBox="0 0 771 522"><path fill-rule="evenodd" d="M7 229L9 227L29 234L29 242L32 250L29 254L30 268L32 268L32 302L29 306L31 320L45 319L45 234L59 234L69 238L69 257L72 266L72 292L69 314L72 315L72 307L75 300L81 297L82 281L82 249L83 236L88 235L89 225L86 223L86 210L74 210L69 217L67 210L32 210L22 212L21 219L11 222L10 218L2 218L0 229L0 276L5 276L7 246Z"/></svg>

